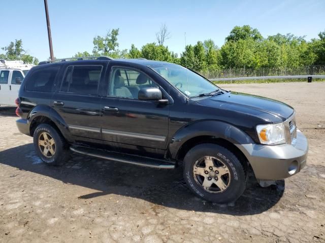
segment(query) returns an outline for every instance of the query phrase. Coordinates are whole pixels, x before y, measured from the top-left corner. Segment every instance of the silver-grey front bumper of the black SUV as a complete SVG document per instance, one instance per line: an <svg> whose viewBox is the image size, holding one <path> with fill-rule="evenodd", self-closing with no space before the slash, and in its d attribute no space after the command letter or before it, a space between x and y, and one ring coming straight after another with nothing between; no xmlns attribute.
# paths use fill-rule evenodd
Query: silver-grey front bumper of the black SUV
<svg viewBox="0 0 325 243"><path fill-rule="evenodd" d="M258 180L281 180L297 174L306 165L308 141L299 130L295 145L241 144L238 147Z"/></svg>

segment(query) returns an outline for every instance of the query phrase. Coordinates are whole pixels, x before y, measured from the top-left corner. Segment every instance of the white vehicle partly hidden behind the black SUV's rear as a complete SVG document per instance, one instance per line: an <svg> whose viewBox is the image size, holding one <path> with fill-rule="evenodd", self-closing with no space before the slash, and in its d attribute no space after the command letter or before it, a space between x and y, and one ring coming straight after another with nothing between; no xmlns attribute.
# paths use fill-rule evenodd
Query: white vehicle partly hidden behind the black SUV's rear
<svg viewBox="0 0 325 243"><path fill-rule="evenodd" d="M34 65L0 60L0 105L15 106L22 79Z"/></svg>

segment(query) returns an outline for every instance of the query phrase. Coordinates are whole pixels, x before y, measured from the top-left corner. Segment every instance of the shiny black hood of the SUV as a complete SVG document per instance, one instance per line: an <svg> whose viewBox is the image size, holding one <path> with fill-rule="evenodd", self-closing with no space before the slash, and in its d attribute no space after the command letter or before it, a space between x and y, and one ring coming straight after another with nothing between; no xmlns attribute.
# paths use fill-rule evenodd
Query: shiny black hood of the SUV
<svg viewBox="0 0 325 243"><path fill-rule="evenodd" d="M227 92L197 100L201 105L245 113L272 123L286 120L294 108L277 100L238 92Z"/></svg>

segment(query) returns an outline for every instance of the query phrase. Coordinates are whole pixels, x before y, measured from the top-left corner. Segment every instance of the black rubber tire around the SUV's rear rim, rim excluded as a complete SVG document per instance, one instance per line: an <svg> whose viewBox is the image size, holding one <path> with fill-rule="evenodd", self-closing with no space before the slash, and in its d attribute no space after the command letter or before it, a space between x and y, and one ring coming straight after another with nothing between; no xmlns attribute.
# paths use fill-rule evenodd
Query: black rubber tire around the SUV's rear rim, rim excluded
<svg viewBox="0 0 325 243"><path fill-rule="evenodd" d="M39 147L39 138L43 133L47 133L55 142L55 152L51 157L45 156ZM58 166L64 164L69 158L69 147L63 136L48 124L39 125L34 132L34 148L36 154L42 161L51 166Z"/></svg>

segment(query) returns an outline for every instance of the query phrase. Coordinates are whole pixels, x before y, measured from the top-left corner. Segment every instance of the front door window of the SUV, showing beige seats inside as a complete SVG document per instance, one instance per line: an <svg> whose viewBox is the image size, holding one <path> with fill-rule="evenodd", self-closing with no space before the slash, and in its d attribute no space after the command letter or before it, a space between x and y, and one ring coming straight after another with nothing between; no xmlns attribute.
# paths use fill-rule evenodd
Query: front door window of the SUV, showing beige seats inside
<svg viewBox="0 0 325 243"><path fill-rule="evenodd" d="M114 67L109 87L109 96L138 99L140 89L158 86L144 73Z"/></svg>

